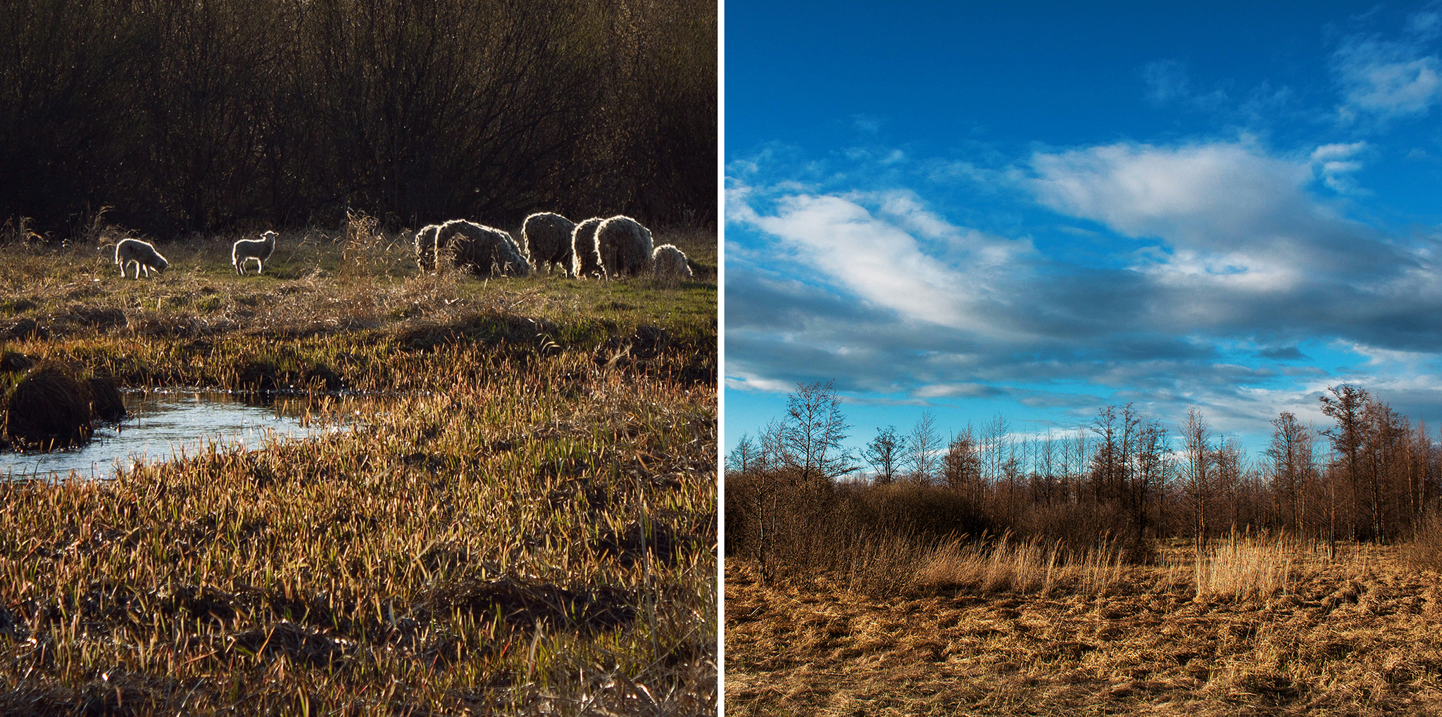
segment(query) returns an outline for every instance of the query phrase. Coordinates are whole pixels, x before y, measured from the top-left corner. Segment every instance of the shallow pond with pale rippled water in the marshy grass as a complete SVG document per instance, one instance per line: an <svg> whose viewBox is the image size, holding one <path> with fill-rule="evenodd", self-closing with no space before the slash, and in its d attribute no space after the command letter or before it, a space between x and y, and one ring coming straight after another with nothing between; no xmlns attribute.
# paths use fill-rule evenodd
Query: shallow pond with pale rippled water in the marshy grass
<svg viewBox="0 0 1442 717"><path fill-rule="evenodd" d="M209 443L260 448L267 438L309 438L339 430L335 423L311 420L309 399L277 397L257 405L219 392L124 393L125 419L101 423L95 438L81 446L48 454L0 451L0 479L112 478L136 462L164 462L195 455Z"/></svg>

